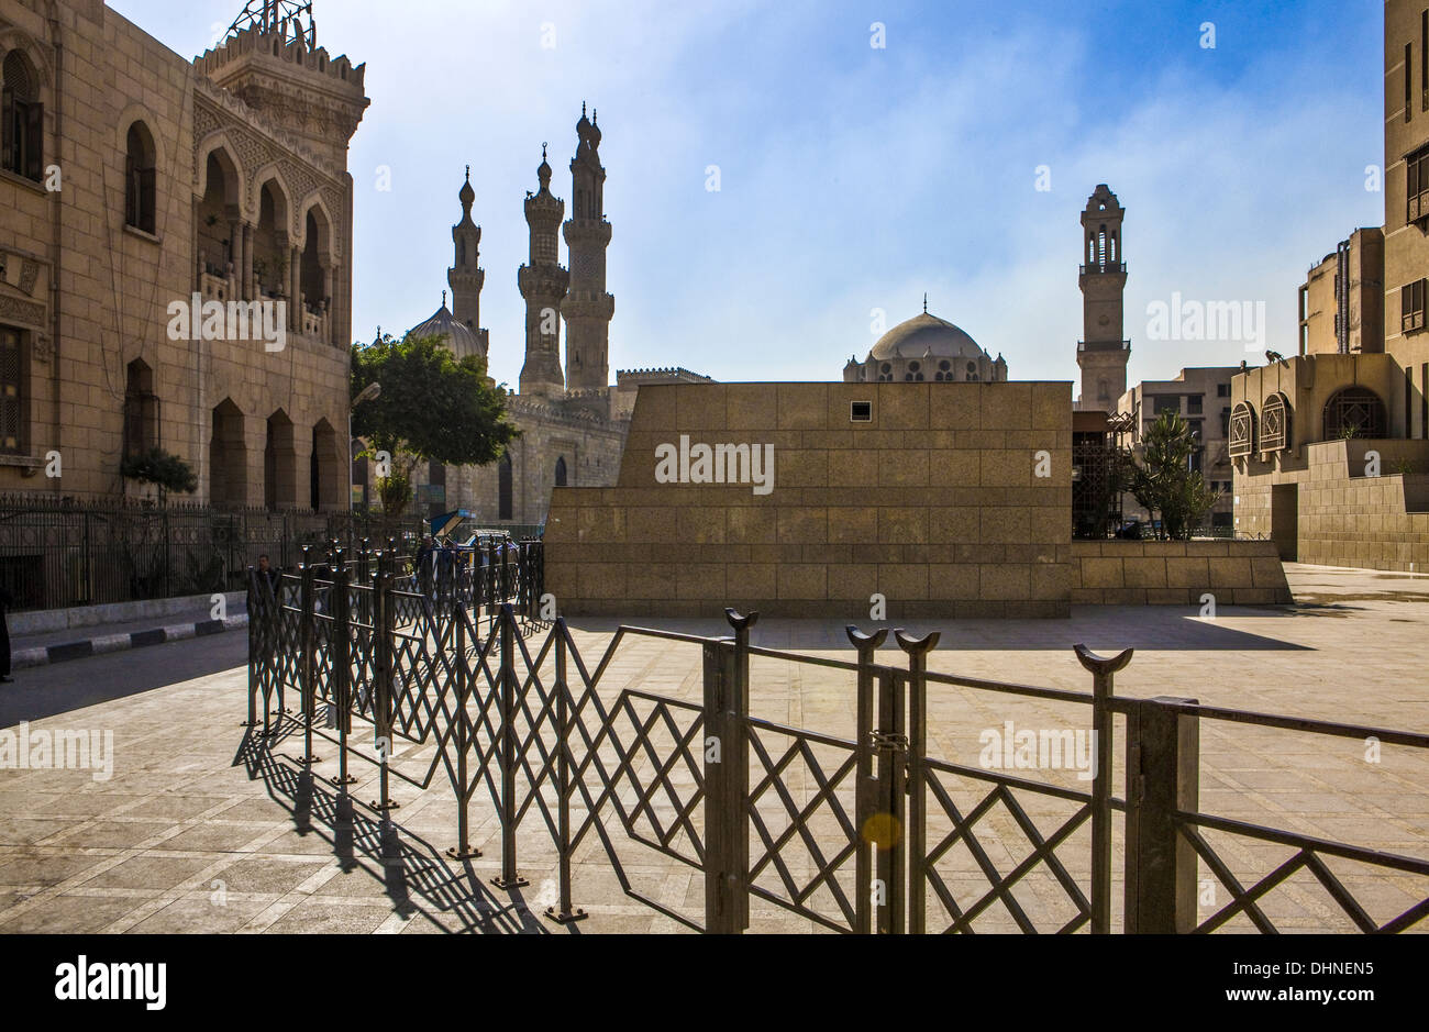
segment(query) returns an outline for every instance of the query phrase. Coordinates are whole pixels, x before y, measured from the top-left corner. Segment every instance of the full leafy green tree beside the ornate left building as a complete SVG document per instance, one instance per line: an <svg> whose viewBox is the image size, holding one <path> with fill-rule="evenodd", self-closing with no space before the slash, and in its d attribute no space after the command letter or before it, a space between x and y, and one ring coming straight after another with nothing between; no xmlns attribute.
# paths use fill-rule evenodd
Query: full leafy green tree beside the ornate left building
<svg viewBox="0 0 1429 1032"><path fill-rule="evenodd" d="M382 393L353 409L353 433L367 440L364 456L386 452L392 459L377 495L393 516L412 502L417 462L484 466L520 433L506 413L506 390L486 377L486 360L459 360L442 337L383 334L353 344L350 397L370 383L380 383Z"/></svg>

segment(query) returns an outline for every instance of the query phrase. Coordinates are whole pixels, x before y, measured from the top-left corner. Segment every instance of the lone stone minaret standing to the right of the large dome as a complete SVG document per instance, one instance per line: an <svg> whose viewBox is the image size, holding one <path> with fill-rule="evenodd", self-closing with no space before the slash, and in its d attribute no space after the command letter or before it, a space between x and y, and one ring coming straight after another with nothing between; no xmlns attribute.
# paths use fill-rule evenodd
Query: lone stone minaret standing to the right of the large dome
<svg viewBox="0 0 1429 1032"><path fill-rule="evenodd" d="M1126 262L1122 252L1122 220L1126 209L1116 200L1106 183L1082 212L1082 287L1083 339L1076 349L1076 363L1082 367L1082 397L1079 409L1115 412L1126 393L1126 362L1132 356L1132 342L1125 329L1122 296L1126 292Z"/></svg>

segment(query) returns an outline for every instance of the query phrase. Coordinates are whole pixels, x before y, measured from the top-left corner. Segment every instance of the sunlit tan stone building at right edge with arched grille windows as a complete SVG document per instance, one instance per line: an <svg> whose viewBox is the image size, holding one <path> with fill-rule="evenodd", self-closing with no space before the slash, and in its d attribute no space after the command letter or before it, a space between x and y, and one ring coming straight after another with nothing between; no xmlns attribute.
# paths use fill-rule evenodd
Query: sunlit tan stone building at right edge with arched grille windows
<svg viewBox="0 0 1429 1032"><path fill-rule="evenodd" d="M1429 567L1429 9L1422 0L1385 4L1383 74L1383 344L1373 330L1376 302L1369 297L1378 236L1360 232L1336 250L1336 273L1342 253L1349 272L1339 292L1318 289L1313 274L1303 287L1310 300L1302 309L1300 354L1235 377L1235 520L1240 535L1273 539L1285 559L1423 572ZM1333 294L1345 290L1349 324L1318 323L1316 312L1326 304L1340 313Z"/></svg>

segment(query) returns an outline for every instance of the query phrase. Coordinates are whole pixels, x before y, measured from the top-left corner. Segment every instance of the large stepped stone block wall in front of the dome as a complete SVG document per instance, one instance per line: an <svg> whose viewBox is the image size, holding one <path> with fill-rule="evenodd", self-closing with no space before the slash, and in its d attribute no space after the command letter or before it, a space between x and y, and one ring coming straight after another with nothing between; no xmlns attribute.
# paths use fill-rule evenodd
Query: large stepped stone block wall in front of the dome
<svg viewBox="0 0 1429 1032"><path fill-rule="evenodd" d="M659 483L682 435L773 445L772 492ZM1066 616L1070 459L1070 383L643 386L617 486L553 493L546 587L564 615Z"/></svg>

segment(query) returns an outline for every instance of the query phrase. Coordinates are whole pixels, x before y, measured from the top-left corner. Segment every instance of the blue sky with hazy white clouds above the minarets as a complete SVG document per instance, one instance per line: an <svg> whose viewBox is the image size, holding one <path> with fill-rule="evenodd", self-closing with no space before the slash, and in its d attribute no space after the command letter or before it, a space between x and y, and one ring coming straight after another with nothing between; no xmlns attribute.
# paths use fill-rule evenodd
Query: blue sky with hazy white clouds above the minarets
<svg viewBox="0 0 1429 1032"><path fill-rule="evenodd" d="M184 57L242 10L110 6ZM582 101L607 172L612 379L839 380L926 292L1010 379L1076 380L1097 183L1126 207L1129 383L1258 364L1296 350L1309 267L1383 224L1366 172L1383 163L1382 0L316 0L314 16L319 44L367 63L354 336L439 307L470 164L490 372L510 384L522 202L549 142L569 212ZM1176 296L1263 304L1266 332L1153 339Z"/></svg>

